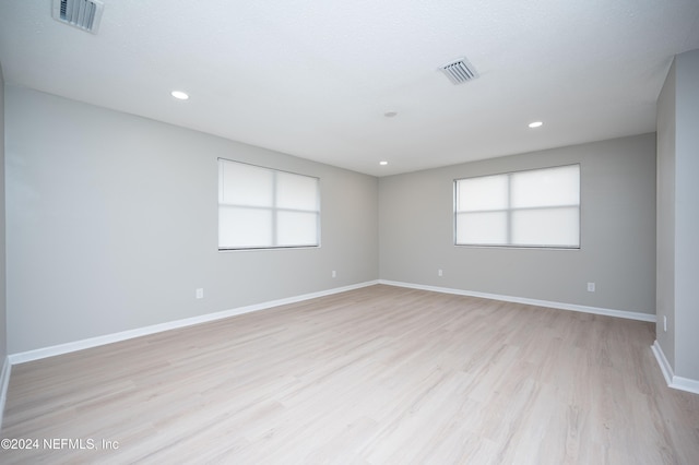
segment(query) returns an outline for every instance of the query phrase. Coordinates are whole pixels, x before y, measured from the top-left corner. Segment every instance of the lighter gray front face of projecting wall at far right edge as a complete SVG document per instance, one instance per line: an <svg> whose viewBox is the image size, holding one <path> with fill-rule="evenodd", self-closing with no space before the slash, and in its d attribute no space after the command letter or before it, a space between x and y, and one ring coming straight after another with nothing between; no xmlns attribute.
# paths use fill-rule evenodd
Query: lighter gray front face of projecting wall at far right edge
<svg viewBox="0 0 699 465"><path fill-rule="evenodd" d="M675 374L699 381L699 50L675 72Z"/></svg>

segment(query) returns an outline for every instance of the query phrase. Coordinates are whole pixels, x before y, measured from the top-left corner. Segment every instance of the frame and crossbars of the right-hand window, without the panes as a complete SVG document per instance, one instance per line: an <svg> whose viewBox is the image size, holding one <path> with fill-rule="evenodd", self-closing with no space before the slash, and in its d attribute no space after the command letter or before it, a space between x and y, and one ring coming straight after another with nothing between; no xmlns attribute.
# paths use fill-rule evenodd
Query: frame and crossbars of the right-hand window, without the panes
<svg viewBox="0 0 699 465"><path fill-rule="evenodd" d="M556 169L556 168L566 168L566 167L578 167L578 204L565 204L565 205L544 205L544 206L530 206L530 207L512 207L512 176L523 172L532 172L532 171L545 171L547 169ZM507 177L507 186L508 190L507 194L507 208L501 210L493 210L493 211L483 211L483 212L505 212L506 213L506 228L507 228L507 243L461 243L458 241L458 223L459 223L459 214L467 213L465 211L459 211L459 181L469 180L469 179L479 179L479 178L488 178L488 177ZM512 213L513 212L522 212L522 211L544 211L544 210L553 210L553 208L564 208L564 207L573 207L577 206L577 216L578 216L578 245L577 246L566 246L566 245L528 245L528 243L512 243ZM546 166L541 168L528 168L512 171L503 171L503 172L494 172L489 175L478 175L478 176L469 176L463 178L455 178L453 180L453 213L452 213L452 241L454 247L469 247L469 248L502 248L502 249L534 249L534 250L580 250L582 248L582 164L581 163L570 163L565 165L555 165L555 166Z"/></svg>

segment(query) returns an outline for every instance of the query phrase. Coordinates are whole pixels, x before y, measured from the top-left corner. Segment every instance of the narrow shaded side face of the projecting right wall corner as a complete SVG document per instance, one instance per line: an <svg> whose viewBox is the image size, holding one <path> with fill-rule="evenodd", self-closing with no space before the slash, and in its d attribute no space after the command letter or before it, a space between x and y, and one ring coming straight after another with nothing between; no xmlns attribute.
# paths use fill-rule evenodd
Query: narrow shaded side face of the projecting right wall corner
<svg viewBox="0 0 699 465"><path fill-rule="evenodd" d="M657 249L655 336L675 366L675 62L657 97ZM667 319L665 331L664 319Z"/></svg>

